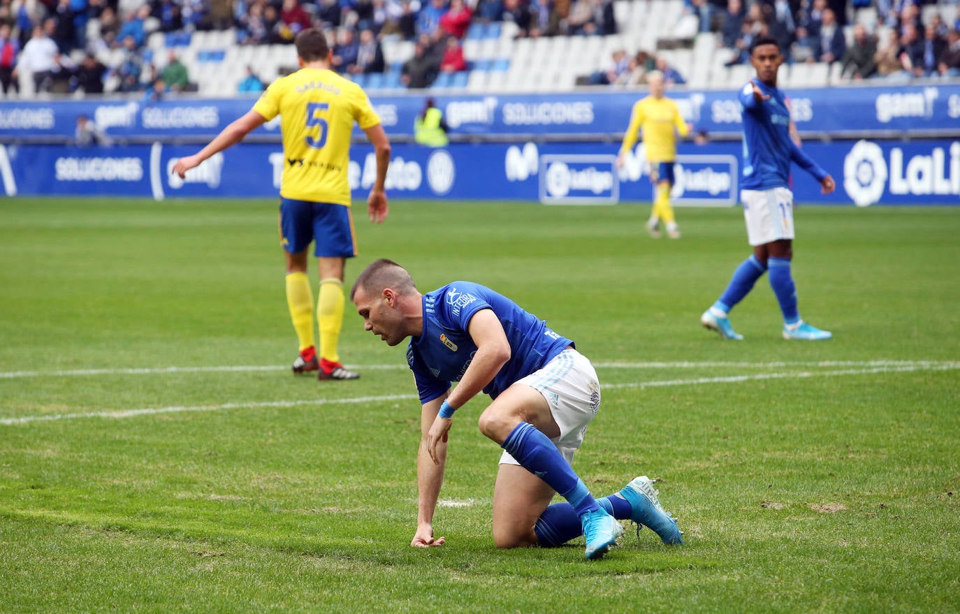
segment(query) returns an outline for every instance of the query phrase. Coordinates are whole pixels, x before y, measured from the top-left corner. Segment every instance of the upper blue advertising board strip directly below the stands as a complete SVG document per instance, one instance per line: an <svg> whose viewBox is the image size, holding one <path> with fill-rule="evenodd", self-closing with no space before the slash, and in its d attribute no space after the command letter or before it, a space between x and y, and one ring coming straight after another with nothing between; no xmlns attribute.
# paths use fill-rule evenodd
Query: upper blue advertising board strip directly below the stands
<svg viewBox="0 0 960 614"><path fill-rule="evenodd" d="M960 85L828 87L789 90L793 117L805 132L837 137L906 132L912 136L960 136ZM433 95L431 93L431 95ZM620 134L644 92L586 92L549 96L435 96L454 135L544 138ZM740 129L736 92L671 92L698 130L734 136ZM250 110L254 99L138 101L81 100L0 103L0 142L73 137L77 116L89 115L111 136L138 140L209 140ZM422 96L375 97L372 104L387 133L412 135ZM278 122L255 130L277 138Z"/></svg>

